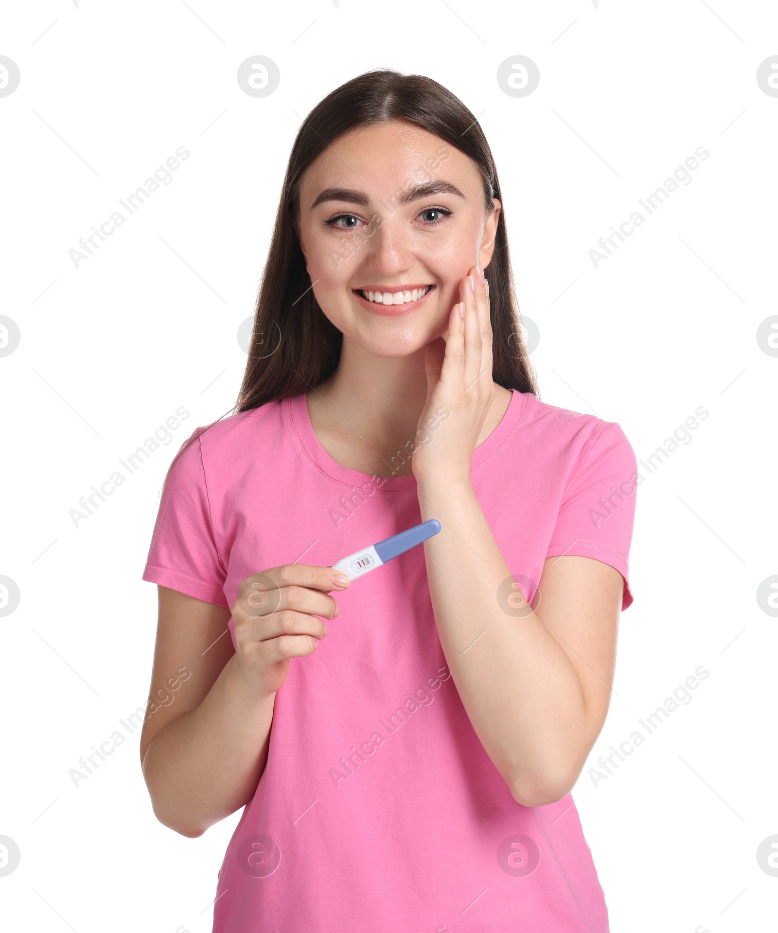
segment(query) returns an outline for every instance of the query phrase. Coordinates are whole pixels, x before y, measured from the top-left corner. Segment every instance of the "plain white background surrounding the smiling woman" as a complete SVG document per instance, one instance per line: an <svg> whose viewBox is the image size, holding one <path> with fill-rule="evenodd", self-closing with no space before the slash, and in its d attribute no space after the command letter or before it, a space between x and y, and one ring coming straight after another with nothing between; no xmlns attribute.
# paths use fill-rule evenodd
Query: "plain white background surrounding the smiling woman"
<svg viewBox="0 0 778 933"><path fill-rule="evenodd" d="M757 327L778 313L778 97L756 75L778 54L778 10L41 0L7 6L0 26L0 55L21 70L0 97L0 313L21 329L0 358L0 574L21 590L0 620L0 835L21 849L0 877L5 926L211 929L239 815L196 840L161 826L140 731L77 788L68 771L146 702L157 594L141 574L161 480L194 427L234 405L236 334L300 120L343 81L392 66L451 89L493 147L542 399L618 422L639 458L710 411L640 487L635 601L574 798L614 933L774 928L778 878L757 846L778 834L778 619L757 587L778 574L778 358ZM281 71L264 98L236 80L257 54ZM496 81L519 54L540 70L524 98ZM191 156L174 182L76 269L68 250L178 146ZM698 146L710 157L691 184L595 269L598 238ZM76 528L79 497L182 405L174 441ZM588 768L701 664L693 701L595 788Z"/></svg>

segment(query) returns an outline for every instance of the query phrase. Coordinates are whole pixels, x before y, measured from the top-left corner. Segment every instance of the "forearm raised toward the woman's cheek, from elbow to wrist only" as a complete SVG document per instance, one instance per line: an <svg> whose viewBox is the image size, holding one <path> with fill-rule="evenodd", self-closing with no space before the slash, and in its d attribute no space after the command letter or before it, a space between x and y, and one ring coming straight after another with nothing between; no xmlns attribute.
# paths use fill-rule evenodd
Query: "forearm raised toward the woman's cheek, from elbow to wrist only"
<svg viewBox="0 0 778 933"><path fill-rule="evenodd" d="M424 542L424 557L440 643L465 711L518 801L559 800L590 747L577 673L518 590L512 603L521 601L521 616L500 605L511 573L469 480L420 483L418 492L423 520L443 524L443 534Z"/></svg>

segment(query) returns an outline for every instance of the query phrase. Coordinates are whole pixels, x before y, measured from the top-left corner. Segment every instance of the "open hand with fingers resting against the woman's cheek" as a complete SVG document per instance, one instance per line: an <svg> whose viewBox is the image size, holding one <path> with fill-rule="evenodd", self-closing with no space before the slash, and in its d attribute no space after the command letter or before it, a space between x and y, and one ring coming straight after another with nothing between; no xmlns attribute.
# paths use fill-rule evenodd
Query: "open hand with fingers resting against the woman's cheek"
<svg viewBox="0 0 778 933"><path fill-rule="evenodd" d="M470 481L473 451L494 397L489 285L479 266L460 283L459 297L448 334L426 346L427 400L411 458L419 481Z"/></svg>

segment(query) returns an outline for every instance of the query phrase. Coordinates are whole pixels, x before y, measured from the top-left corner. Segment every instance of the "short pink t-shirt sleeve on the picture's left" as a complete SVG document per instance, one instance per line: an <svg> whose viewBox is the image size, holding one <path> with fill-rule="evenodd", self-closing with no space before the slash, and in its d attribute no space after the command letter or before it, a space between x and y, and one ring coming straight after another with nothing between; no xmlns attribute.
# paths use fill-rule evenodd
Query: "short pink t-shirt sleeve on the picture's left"
<svg viewBox="0 0 778 933"><path fill-rule="evenodd" d="M211 523L201 430L197 428L181 445L179 451L186 450L165 481L143 579L229 607L224 594L227 567Z"/></svg>

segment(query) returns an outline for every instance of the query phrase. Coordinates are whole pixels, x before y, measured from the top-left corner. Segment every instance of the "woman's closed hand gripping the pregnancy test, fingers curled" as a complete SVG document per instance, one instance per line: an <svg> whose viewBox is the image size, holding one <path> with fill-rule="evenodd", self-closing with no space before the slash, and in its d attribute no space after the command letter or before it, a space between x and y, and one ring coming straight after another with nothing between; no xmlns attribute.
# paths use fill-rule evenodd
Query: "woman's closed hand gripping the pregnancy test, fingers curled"
<svg viewBox="0 0 778 933"><path fill-rule="evenodd" d="M232 606L238 670L260 697L285 682L290 658L313 654L326 637L319 616L335 619L340 608L329 591L351 580L332 567L283 564L246 577Z"/></svg>

